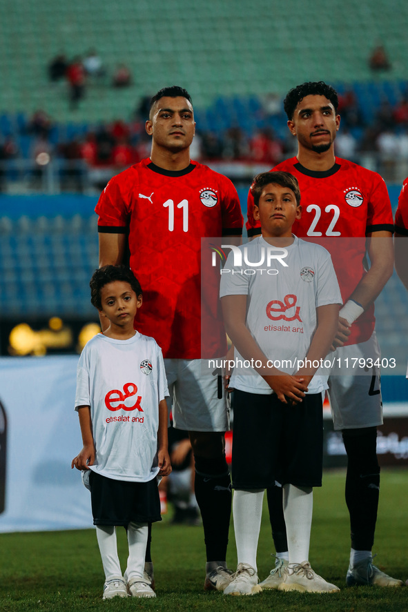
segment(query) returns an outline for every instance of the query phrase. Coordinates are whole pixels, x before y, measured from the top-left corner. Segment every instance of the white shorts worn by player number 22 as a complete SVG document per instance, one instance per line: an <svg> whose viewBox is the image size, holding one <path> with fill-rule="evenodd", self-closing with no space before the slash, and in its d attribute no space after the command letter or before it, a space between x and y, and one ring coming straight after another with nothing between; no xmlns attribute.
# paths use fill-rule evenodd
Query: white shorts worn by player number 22
<svg viewBox="0 0 408 612"><path fill-rule="evenodd" d="M371 366L370 361L381 359L376 332L367 342L336 348L330 357L335 358L328 391L334 428L360 429L382 425L380 368ZM371 367L351 367L356 358L364 360L360 363L368 360Z"/></svg>

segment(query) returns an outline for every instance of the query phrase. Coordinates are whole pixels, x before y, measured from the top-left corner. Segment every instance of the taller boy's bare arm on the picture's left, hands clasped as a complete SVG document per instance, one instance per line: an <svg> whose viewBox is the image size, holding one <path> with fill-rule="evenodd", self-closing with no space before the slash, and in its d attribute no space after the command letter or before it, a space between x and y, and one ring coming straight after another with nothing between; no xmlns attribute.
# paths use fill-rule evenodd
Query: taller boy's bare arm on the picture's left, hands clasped
<svg viewBox="0 0 408 612"><path fill-rule="evenodd" d="M253 363L260 362L260 367L254 369L269 384L278 395L278 399L287 404L285 396L293 402L301 402L307 385L301 377L291 376L278 370L269 368L268 359L261 351L257 342L246 327L246 295L224 295L221 298L222 314L226 333L231 338L237 351L244 359L253 359Z"/></svg>

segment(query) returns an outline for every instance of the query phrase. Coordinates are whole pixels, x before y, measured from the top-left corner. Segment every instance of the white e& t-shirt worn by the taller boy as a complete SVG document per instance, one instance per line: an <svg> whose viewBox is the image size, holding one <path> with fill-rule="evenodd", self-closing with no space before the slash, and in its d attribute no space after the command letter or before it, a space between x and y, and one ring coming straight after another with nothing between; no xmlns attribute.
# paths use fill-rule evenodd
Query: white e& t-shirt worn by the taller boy
<svg viewBox="0 0 408 612"><path fill-rule="evenodd" d="M309 351L317 325L316 308L341 304L331 257L322 246L297 237L285 248L259 237L230 253L221 274L220 297L247 295L246 326L262 352L280 371L294 374ZM231 387L267 395L271 387L235 349ZM241 366L241 363L243 364ZM309 393L327 388L320 368Z"/></svg>

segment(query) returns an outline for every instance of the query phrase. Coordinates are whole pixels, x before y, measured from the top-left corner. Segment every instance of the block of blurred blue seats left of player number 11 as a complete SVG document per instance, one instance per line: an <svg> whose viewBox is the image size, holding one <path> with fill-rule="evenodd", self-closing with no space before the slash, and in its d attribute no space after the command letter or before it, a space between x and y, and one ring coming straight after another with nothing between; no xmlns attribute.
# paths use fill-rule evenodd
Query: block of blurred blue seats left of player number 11
<svg viewBox="0 0 408 612"><path fill-rule="evenodd" d="M98 262L95 217L0 218L3 318L95 318L89 279Z"/></svg>

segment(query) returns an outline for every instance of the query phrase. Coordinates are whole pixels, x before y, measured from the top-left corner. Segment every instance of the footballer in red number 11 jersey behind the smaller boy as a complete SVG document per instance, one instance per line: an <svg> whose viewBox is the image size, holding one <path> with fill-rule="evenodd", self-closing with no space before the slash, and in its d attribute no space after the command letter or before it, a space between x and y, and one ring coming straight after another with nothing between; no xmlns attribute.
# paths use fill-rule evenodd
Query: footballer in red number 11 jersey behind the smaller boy
<svg viewBox="0 0 408 612"><path fill-rule="evenodd" d="M128 246L130 268L148 302L137 328L162 347L173 424L188 431L193 447L206 544L204 589L223 591L232 574L225 562L231 515L224 453L229 413L217 375L204 373L199 359L201 319L207 314L201 312L201 239L224 236L231 244L242 235L243 218L231 181L190 159L195 121L186 90L173 86L153 96L146 132L152 137L150 159L113 177L99 198L99 265L122 264ZM207 338L210 352L221 335L214 323Z"/></svg>

